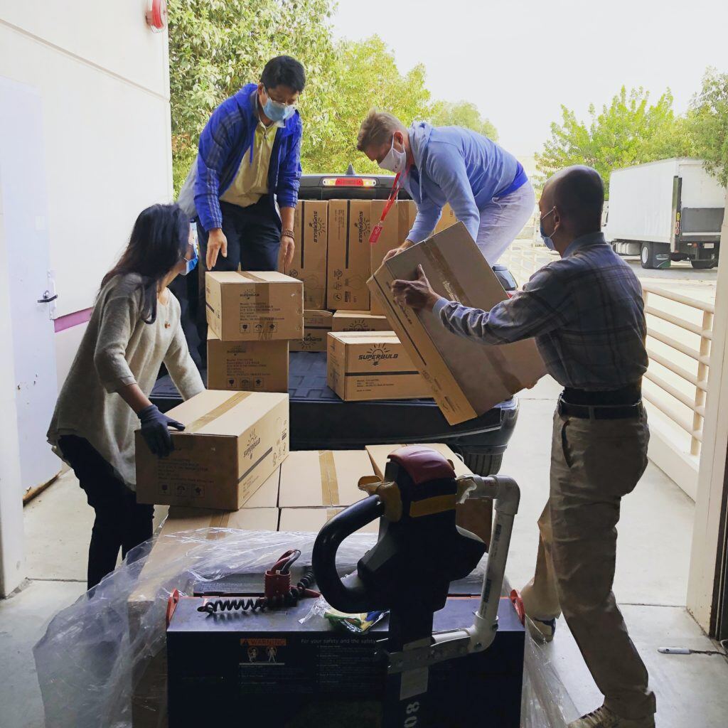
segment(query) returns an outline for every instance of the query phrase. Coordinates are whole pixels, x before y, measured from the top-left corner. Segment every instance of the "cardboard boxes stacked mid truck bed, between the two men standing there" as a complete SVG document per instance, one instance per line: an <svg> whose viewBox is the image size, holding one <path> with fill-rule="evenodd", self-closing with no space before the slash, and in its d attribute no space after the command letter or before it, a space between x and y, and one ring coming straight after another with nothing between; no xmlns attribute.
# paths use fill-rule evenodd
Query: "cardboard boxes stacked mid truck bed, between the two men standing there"
<svg viewBox="0 0 728 728"><path fill-rule="evenodd" d="M379 240L372 244L372 226L386 204L386 200L301 200L296 207L293 261L288 266L282 258L279 261L279 270L304 287L304 330L301 338L290 342L290 349L328 352L329 386L344 400L430 396L367 286L384 256L406 239L416 214L414 202L397 202ZM384 335L343 336L352 332Z"/></svg>

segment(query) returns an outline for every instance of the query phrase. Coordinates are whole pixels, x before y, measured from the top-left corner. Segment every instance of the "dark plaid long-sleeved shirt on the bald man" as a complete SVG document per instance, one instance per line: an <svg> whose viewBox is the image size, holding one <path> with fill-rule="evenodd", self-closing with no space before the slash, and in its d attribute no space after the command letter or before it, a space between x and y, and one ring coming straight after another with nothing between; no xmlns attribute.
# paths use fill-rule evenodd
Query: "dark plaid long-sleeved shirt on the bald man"
<svg viewBox="0 0 728 728"><path fill-rule="evenodd" d="M484 344L533 337L564 387L620 389L638 384L647 368L642 288L601 233L574 240L561 260L488 312L441 298L435 314L450 331Z"/></svg>

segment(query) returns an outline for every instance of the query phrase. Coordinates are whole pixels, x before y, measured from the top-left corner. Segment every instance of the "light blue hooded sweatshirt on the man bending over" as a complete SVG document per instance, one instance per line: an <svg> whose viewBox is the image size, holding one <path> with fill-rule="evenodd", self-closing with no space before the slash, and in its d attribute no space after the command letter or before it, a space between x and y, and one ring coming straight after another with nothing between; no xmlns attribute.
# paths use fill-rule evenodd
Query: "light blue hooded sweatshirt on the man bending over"
<svg viewBox="0 0 728 728"><path fill-rule="evenodd" d="M403 185L417 205L412 242L432 234L446 202L478 240L480 210L528 181L513 154L470 129L415 122L409 138L416 173L405 175Z"/></svg>

